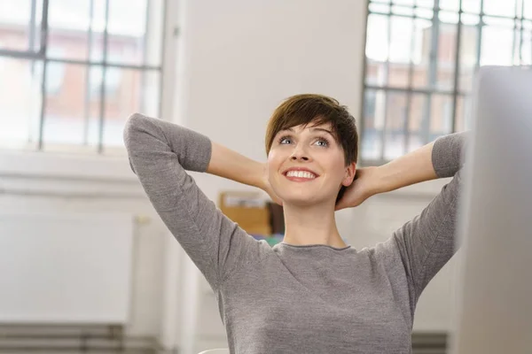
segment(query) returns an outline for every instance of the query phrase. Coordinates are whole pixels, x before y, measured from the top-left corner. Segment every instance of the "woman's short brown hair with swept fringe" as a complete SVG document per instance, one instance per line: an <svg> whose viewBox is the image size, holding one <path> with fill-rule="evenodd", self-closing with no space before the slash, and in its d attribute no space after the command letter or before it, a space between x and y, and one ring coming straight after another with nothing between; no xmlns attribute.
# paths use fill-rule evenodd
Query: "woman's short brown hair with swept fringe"
<svg viewBox="0 0 532 354"><path fill-rule="evenodd" d="M271 115L266 130L266 154L270 153L273 139L279 131L299 125L331 123L332 135L344 151L345 165L356 163L358 158L358 133L356 121L345 105L332 97L303 94L288 97ZM340 189L337 201L343 195Z"/></svg>

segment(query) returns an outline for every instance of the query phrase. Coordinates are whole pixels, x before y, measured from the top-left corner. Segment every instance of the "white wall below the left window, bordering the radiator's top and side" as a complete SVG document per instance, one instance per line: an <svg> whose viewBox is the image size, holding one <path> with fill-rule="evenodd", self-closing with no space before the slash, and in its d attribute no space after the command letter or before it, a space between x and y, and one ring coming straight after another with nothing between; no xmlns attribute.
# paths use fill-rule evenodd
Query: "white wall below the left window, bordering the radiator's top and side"
<svg viewBox="0 0 532 354"><path fill-rule="evenodd" d="M105 162L93 159L76 161L74 158L54 158L61 165L56 172L28 173L32 165L42 161L40 156L26 154L0 155L0 213L10 212L130 212L146 216L147 224L139 224L135 234L133 269L133 297L130 321L126 328L129 336L154 336L160 331L160 291L163 268L160 255L165 229L155 218L137 181L127 178L129 166L123 158ZM21 160L22 164L17 164ZM93 179L82 179L83 166L94 167ZM67 173L70 170L70 173ZM121 175L120 171L123 171ZM79 175L76 174L80 173ZM104 178L105 173L113 176ZM104 245L105 246L105 245Z"/></svg>

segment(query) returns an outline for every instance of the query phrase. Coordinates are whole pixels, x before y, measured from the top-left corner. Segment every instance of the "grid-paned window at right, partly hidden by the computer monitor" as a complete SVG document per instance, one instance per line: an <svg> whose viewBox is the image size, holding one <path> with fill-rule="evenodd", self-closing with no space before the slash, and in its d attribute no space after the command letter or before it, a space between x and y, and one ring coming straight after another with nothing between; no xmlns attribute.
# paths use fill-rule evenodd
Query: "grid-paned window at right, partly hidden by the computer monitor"
<svg viewBox="0 0 532 354"><path fill-rule="evenodd" d="M532 65L532 0L369 0L361 160L470 128L481 65Z"/></svg>

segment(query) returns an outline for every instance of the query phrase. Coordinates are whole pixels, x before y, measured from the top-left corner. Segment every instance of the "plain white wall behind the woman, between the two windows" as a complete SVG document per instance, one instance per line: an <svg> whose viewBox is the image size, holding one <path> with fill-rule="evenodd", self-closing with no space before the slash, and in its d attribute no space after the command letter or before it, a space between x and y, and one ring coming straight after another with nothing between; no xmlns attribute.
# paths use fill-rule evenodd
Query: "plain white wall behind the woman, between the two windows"
<svg viewBox="0 0 532 354"><path fill-rule="evenodd" d="M365 1L190 0L183 12L177 122L264 161L267 121L287 96L307 92L333 96L359 115ZM222 189L246 189L213 176L195 176L215 200ZM340 231L356 248L384 241L419 213L441 186L442 181L435 181L376 196L356 210L339 212ZM446 267L426 289L416 329L448 327L449 272ZM193 291L192 296L199 296L196 323L186 316L182 319L182 326L193 325L181 332L185 353L225 341L207 283L200 281L200 289Z"/></svg>

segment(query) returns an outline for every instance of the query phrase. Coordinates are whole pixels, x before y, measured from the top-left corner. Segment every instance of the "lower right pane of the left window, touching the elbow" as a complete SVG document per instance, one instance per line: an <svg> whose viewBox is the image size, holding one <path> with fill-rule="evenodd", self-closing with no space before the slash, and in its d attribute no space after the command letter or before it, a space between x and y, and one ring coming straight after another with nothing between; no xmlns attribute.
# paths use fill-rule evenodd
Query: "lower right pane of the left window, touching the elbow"
<svg viewBox="0 0 532 354"><path fill-rule="evenodd" d="M122 131L132 113L159 116L160 73L113 68L113 76L106 75L106 109L104 145L123 146ZM109 69L107 69L109 70Z"/></svg>

